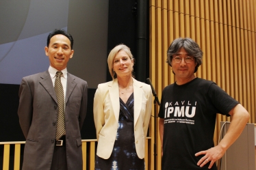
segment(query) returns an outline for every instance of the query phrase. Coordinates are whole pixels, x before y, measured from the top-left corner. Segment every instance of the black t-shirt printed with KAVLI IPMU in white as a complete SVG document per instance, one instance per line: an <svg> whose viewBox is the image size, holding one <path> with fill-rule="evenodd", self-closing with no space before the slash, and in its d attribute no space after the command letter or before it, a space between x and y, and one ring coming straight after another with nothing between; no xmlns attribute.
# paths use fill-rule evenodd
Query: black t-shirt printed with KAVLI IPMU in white
<svg viewBox="0 0 256 170"><path fill-rule="evenodd" d="M216 113L229 115L239 102L212 81L196 78L162 91L159 117L164 118L162 169L208 169L197 162L196 152L214 147ZM216 164L212 169L217 169Z"/></svg>

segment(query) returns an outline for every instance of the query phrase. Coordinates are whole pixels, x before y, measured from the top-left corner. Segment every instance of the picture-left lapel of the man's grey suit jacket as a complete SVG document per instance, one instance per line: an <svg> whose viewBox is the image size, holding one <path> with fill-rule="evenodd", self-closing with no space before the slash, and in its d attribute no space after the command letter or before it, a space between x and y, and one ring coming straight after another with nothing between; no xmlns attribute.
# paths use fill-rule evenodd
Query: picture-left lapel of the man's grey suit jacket
<svg viewBox="0 0 256 170"><path fill-rule="evenodd" d="M40 77L42 79L40 81L40 84L50 94L51 98L53 98L53 100L57 103L57 98L56 98L55 91L53 88L53 81L51 80L51 76L50 76L48 70L46 72L42 72Z"/></svg>

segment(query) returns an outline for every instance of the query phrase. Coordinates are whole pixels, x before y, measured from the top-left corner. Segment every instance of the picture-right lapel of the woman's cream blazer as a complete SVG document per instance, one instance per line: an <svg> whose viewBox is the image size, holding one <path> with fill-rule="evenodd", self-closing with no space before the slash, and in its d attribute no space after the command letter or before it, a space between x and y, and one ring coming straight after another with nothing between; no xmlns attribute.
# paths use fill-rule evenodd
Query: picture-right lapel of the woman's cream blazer
<svg viewBox="0 0 256 170"><path fill-rule="evenodd" d="M134 126L138 120L140 115L140 110L142 107L142 89L140 89L142 85L133 79L133 96L134 96Z"/></svg>

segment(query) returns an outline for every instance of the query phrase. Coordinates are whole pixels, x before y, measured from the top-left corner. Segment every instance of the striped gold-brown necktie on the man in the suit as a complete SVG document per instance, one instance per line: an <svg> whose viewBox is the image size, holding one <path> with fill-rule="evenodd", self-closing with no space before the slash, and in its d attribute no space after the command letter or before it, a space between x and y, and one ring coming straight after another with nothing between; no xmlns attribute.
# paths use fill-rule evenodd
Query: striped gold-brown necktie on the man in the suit
<svg viewBox="0 0 256 170"><path fill-rule="evenodd" d="M65 115L64 115L64 91L60 77L62 72L56 72L54 90L57 97L57 130L56 140L59 140L65 133Z"/></svg>

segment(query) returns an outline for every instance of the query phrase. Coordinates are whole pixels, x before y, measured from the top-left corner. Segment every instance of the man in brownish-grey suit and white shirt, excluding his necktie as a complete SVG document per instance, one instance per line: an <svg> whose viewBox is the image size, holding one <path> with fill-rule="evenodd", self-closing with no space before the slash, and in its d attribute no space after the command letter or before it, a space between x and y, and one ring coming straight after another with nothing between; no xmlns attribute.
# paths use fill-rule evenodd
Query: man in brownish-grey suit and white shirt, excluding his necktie
<svg viewBox="0 0 256 170"><path fill-rule="evenodd" d="M82 169L80 130L86 117L88 85L66 70L73 57L73 38L62 29L49 33L45 72L23 77L18 117L26 138L23 170ZM64 134L56 140L60 104L55 93L56 72L61 71L64 96Z"/></svg>

